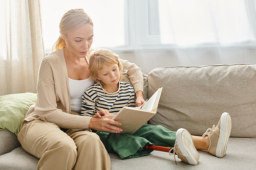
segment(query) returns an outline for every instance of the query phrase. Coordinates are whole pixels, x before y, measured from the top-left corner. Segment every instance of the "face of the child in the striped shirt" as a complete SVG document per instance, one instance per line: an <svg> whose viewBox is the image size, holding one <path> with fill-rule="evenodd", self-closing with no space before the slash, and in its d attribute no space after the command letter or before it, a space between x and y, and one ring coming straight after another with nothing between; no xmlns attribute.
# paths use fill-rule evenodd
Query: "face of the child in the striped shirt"
<svg viewBox="0 0 256 170"><path fill-rule="evenodd" d="M96 78L104 83L104 88L116 87L120 79L120 71L117 64L104 64L97 74L98 76Z"/></svg>

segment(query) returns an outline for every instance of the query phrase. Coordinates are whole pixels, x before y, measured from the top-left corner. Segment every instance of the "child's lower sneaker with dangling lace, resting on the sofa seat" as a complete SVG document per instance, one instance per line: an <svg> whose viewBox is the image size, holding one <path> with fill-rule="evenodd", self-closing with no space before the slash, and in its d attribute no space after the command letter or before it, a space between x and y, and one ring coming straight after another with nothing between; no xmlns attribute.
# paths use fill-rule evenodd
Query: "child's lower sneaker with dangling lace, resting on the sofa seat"
<svg viewBox="0 0 256 170"><path fill-rule="evenodd" d="M174 151L173 154L170 153L172 150ZM190 165L198 164L199 153L195 148L191 134L186 129L178 129L174 148L169 151L170 155L174 155L176 163L175 153L183 162Z"/></svg>

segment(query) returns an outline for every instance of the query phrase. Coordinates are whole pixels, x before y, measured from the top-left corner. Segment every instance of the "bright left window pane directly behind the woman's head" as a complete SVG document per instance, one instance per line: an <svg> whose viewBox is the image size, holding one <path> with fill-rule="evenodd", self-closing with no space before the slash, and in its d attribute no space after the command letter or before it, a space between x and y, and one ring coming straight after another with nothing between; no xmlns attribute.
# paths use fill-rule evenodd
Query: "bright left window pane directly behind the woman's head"
<svg viewBox="0 0 256 170"><path fill-rule="evenodd" d="M82 8L94 23L93 46L125 46L127 42L127 2L112 1L41 1L43 36L46 53L59 37L59 22L70 9Z"/></svg>

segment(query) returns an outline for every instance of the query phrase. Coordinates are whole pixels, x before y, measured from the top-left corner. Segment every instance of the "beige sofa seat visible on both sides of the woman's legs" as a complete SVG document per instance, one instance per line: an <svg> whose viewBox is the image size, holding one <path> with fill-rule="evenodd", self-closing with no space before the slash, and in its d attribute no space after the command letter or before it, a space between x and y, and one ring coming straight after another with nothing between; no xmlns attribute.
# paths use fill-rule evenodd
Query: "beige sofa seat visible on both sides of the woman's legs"
<svg viewBox="0 0 256 170"><path fill-rule="evenodd" d="M182 162L169 153L153 151L150 155L140 158L120 159L118 154L110 153L111 169L255 169L256 149L253 138L230 138L225 157L217 158L199 150L200 159L197 166ZM36 169L38 159L22 149L16 148L12 152L0 156L1 170Z"/></svg>

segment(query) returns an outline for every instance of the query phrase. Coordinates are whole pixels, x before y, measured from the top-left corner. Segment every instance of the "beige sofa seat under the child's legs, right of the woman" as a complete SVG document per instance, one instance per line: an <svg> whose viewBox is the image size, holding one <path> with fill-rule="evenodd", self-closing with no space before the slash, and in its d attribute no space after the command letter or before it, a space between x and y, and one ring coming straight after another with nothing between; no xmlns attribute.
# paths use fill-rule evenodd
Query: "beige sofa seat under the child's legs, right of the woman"
<svg viewBox="0 0 256 170"><path fill-rule="evenodd" d="M255 169L256 149L253 138L229 138L227 152L223 158L212 156L206 151L199 150L199 163L191 166L182 162L176 155L167 152L153 151L150 155L140 158L120 159L117 154L110 153L111 169Z"/></svg>

